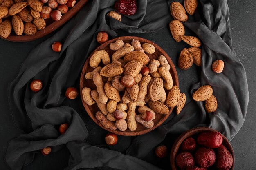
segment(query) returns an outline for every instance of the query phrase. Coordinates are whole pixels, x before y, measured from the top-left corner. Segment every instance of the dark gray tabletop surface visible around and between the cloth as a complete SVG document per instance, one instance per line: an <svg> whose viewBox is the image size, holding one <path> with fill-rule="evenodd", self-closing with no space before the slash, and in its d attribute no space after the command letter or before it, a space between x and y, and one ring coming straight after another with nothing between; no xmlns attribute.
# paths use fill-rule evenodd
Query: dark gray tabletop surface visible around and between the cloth
<svg viewBox="0 0 256 170"><path fill-rule="evenodd" d="M249 105L247 116L243 127L240 129L238 134L231 141L231 144L235 152L235 170L255 170L256 169L256 2L254 0L228 0L229 10L230 10L230 21L231 21L231 31L233 38L233 47L236 51L237 57L240 59L245 67L247 73L247 80L249 86ZM56 31L55 31L56 32ZM186 44L175 45L171 33L166 27L155 33L143 33L143 34L131 34L124 31L117 31L118 36L123 35L135 35L139 37L151 40L161 46L170 55L177 68L177 57ZM52 33L54 34L54 33ZM47 35L44 38L33 42L8 42L0 39L0 169L8 169L7 165L4 163L4 155L7 147L8 141L15 137L19 130L13 126L12 117L9 111L9 105L7 101L7 86L8 83L13 80L20 68L22 61L28 55L29 51L35 46L46 40L52 34ZM35 56L36 57L36 56ZM236 68L234 68L236 69ZM192 66L188 71L181 71L177 68L177 73L179 76L181 91L189 96L189 89L193 83L198 81L198 75L200 73L200 68L195 65ZM79 97L78 97L79 98ZM188 97L187 102L191 100ZM76 99L74 102L81 102L80 98ZM73 106L71 102L67 101L67 104ZM90 136L89 141L96 144L104 144L104 135L106 131L98 130L96 124L86 115L82 105L76 106L76 110L80 113L81 117L85 121ZM96 135L97 134L97 135ZM96 135L94 139L94 136ZM100 140L98 138L101 138ZM127 137L119 137L119 142L128 145ZM99 142L101 141L101 142ZM115 148L121 152L121 145ZM171 146L169 146L171 148ZM52 153L47 157L36 154L35 161L29 166L23 168L24 170L62 170L68 164L69 152L63 148L62 150Z"/></svg>

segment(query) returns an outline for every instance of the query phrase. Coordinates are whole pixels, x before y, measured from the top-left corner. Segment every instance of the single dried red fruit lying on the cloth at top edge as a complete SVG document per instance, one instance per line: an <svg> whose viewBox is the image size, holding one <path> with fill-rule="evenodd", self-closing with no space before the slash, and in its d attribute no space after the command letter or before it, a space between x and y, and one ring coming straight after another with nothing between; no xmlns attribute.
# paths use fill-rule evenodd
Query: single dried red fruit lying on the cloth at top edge
<svg viewBox="0 0 256 170"><path fill-rule="evenodd" d="M121 14L134 15L137 11L136 0L118 0L115 9Z"/></svg>

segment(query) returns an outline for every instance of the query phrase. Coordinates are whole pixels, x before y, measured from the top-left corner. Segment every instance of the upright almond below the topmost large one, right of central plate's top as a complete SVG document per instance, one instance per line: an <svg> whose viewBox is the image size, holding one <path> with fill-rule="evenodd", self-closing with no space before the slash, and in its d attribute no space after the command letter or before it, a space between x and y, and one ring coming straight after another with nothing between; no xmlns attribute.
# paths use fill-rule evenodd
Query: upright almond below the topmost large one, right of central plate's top
<svg viewBox="0 0 256 170"><path fill-rule="evenodd" d="M171 34L176 42L180 42L182 39L180 35L185 35L185 29L183 24L179 20L172 20L169 24Z"/></svg>

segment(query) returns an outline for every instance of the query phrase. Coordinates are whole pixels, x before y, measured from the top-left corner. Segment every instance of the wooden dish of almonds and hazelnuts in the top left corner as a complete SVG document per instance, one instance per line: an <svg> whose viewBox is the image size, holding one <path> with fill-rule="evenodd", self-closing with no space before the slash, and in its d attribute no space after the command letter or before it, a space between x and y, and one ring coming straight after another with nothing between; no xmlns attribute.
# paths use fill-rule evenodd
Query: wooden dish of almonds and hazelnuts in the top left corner
<svg viewBox="0 0 256 170"><path fill-rule="evenodd" d="M72 18L88 0L0 0L0 37L14 42L41 38Z"/></svg>

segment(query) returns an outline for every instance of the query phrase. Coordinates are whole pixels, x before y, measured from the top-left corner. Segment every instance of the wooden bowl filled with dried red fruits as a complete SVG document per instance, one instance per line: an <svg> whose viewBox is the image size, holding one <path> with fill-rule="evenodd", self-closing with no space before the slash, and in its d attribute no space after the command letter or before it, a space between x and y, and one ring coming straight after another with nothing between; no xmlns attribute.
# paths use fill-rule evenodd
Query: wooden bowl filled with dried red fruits
<svg viewBox="0 0 256 170"><path fill-rule="evenodd" d="M220 132L193 128L177 138L171 150L173 170L233 170L234 151Z"/></svg>

